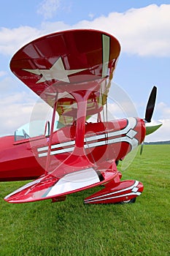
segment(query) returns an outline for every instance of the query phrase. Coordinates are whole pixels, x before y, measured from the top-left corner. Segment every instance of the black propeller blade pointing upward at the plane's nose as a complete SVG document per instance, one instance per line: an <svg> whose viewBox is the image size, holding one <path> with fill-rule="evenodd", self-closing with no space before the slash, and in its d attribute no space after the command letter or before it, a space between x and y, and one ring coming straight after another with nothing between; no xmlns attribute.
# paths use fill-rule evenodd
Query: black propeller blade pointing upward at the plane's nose
<svg viewBox="0 0 170 256"><path fill-rule="evenodd" d="M156 86L154 86L147 102L147 108L146 108L145 118L144 118L144 120L147 121L148 123L150 123L151 121L152 113L155 108L156 93L157 93L157 88Z"/></svg>

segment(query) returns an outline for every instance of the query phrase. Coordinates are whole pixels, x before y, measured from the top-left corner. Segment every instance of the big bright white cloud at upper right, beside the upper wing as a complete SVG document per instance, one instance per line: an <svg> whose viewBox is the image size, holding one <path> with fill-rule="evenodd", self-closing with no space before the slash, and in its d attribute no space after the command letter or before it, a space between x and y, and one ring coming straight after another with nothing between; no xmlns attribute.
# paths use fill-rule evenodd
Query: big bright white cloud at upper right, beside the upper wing
<svg viewBox="0 0 170 256"><path fill-rule="evenodd" d="M111 12L93 21L82 20L79 27L108 31L120 40L126 53L139 56L170 56L170 4L152 4L127 12Z"/></svg>

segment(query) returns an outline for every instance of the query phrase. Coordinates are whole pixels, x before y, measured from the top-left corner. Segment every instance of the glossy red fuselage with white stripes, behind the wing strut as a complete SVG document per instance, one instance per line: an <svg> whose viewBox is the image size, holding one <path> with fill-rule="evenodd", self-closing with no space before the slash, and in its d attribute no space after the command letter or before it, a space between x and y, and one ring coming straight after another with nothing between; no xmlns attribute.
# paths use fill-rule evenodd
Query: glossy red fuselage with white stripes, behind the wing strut
<svg viewBox="0 0 170 256"><path fill-rule="evenodd" d="M50 171L74 150L75 125L53 133ZM85 154L100 166L110 160L123 159L144 140L143 119L128 118L85 125ZM45 173L49 138L38 136L15 141L15 136L0 138L0 181L21 181Z"/></svg>

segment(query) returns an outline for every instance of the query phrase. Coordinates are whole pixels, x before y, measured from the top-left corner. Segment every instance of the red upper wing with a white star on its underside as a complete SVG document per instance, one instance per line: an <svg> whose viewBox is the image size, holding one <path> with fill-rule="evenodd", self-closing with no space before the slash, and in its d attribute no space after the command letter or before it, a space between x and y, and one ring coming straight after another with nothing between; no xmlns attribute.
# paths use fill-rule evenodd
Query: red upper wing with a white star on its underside
<svg viewBox="0 0 170 256"><path fill-rule="evenodd" d="M58 93L61 123L77 115L72 91L85 90L98 81L88 99L87 116L98 113L106 102L120 44L110 34L91 29L61 31L36 39L18 50L10 62L12 72L53 107ZM90 87L88 87L90 88Z"/></svg>

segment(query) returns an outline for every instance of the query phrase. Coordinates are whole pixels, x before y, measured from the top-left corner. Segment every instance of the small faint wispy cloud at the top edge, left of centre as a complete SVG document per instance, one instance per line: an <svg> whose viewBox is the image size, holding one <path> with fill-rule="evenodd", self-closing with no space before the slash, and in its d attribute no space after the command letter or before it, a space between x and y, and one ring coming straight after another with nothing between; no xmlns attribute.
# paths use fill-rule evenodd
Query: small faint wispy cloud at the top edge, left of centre
<svg viewBox="0 0 170 256"><path fill-rule="evenodd" d="M45 19L52 18L60 7L61 0L44 0L39 4L37 13L43 15Z"/></svg>

